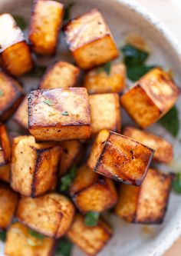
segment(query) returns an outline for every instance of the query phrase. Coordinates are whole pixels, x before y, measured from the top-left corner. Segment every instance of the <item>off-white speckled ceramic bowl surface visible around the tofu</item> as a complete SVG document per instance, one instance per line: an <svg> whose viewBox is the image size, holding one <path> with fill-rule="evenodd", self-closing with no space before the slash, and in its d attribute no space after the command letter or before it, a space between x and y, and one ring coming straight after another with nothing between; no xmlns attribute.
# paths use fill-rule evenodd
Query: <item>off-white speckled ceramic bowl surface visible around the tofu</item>
<svg viewBox="0 0 181 256"><path fill-rule="evenodd" d="M31 11L30 0L1 0L1 13L10 12L16 15L23 15L27 20ZM62 1L72 2L72 1ZM98 8L104 15L110 26L117 45L122 45L125 37L130 32L136 32L145 38L150 48L151 64L161 65L164 68L172 68L173 75L178 85L181 83L181 48L173 35L156 18L148 14L140 5L130 0L74 0L72 17L81 15L91 8ZM41 58L39 62L43 65L53 62L55 59L70 59L64 38L61 35L58 46L58 55L54 58ZM38 85L35 78L21 78L28 91ZM179 107L180 100L177 103ZM123 113L123 125L130 123L130 119ZM14 128L16 129L16 128ZM173 142L175 160L169 166L160 165L163 171L180 171L181 147L178 139L173 139L162 127L153 125L150 131L162 135ZM180 135L179 135L180 138ZM166 218L161 225L143 226L140 224L129 224L115 216L109 216L109 221L114 228L114 238L100 252L101 256L160 256L163 255L173 241L181 234L181 196L171 194ZM0 255L3 256L3 245L0 244ZM74 248L74 256L84 255L79 249ZM28 255L27 255L28 256Z"/></svg>

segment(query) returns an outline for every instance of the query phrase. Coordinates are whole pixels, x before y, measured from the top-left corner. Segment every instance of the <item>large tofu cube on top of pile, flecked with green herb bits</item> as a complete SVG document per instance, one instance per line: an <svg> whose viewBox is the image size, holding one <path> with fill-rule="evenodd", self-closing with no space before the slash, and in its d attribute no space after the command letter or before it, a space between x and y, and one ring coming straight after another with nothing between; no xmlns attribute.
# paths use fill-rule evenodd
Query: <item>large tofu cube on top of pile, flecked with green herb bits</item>
<svg viewBox="0 0 181 256"><path fill-rule="evenodd" d="M85 88L31 91L28 128L37 141L87 139L91 135L89 98Z"/></svg>

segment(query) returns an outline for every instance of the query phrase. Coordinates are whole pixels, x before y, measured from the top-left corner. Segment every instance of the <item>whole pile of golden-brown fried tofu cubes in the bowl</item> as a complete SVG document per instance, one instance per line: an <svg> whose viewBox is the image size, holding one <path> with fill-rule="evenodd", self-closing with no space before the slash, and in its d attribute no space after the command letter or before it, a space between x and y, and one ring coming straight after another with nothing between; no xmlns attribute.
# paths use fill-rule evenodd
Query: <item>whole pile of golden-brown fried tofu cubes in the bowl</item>
<svg viewBox="0 0 181 256"><path fill-rule="evenodd" d="M84 214L114 208L125 221L158 224L169 198L173 175L150 164L172 161L173 147L143 129L173 107L179 88L161 68L126 90L123 63L113 63L110 75L97 72L118 57L118 50L96 9L64 25L76 65L54 62L38 89L25 95L17 78L35 65L32 52L54 55L63 17L60 2L36 0L26 42L12 15L0 15L0 228L8 228L9 256L53 255L64 234L94 256L114 232L101 218L87 227ZM77 86L81 70L84 81ZM121 128L120 105L140 129ZM7 131L9 118L24 128L24 135ZM91 145L88 155L85 145ZM75 164L67 198L58 184ZM12 223L14 217L18 222ZM40 246L26 242L32 239L29 228L45 236Z"/></svg>

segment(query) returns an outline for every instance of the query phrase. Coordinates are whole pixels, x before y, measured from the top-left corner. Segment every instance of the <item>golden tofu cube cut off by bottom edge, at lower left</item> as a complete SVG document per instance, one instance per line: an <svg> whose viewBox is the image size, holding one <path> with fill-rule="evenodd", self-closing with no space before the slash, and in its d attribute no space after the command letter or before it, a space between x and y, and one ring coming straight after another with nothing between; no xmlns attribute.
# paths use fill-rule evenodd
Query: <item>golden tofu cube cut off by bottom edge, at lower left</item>
<svg viewBox="0 0 181 256"><path fill-rule="evenodd" d="M55 241L52 238L35 238L29 228L13 223L6 234L5 254L8 256L51 256Z"/></svg>

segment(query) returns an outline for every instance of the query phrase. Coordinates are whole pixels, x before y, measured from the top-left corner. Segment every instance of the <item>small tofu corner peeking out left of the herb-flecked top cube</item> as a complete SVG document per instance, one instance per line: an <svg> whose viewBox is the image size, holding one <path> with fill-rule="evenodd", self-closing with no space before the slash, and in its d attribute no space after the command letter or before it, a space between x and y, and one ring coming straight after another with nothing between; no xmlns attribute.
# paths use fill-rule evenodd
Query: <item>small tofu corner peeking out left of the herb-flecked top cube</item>
<svg viewBox="0 0 181 256"><path fill-rule="evenodd" d="M22 128L28 129L28 98L25 97L24 100L19 105L13 119L21 125Z"/></svg>

